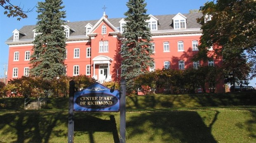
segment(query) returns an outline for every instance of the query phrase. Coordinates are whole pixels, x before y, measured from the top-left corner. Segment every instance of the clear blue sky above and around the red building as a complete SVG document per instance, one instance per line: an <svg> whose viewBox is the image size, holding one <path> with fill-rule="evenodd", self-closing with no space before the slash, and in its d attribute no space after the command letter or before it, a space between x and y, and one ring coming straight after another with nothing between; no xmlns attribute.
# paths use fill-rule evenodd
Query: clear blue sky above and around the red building
<svg viewBox="0 0 256 143"><path fill-rule="evenodd" d="M4 68L8 65L9 46L5 41L13 35L15 29L19 30L25 25L36 25L37 3L44 0L10 0L13 5L19 5L24 11L32 10L26 13L28 18L17 21L17 17L8 18L4 14L4 9L0 7L0 78L4 77ZM64 20L86 21L98 20L102 17L105 9L108 18L123 18L128 8L128 0L62 0L66 11ZM147 14L165 15L165 14L187 14L190 9L199 9L204 3L211 0L145 0L147 2ZM6 70L7 71L7 70ZM250 82L251 86L256 86L256 78Z"/></svg>

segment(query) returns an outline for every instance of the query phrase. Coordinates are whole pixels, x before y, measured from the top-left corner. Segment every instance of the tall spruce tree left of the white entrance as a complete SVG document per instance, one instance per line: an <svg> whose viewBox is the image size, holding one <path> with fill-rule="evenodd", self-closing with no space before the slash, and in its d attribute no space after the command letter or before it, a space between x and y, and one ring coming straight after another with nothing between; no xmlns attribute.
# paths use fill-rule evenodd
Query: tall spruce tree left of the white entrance
<svg viewBox="0 0 256 143"><path fill-rule="evenodd" d="M31 75L52 79L64 74L66 36L64 34L66 12L62 0L38 2L38 22L31 55Z"/></svg>

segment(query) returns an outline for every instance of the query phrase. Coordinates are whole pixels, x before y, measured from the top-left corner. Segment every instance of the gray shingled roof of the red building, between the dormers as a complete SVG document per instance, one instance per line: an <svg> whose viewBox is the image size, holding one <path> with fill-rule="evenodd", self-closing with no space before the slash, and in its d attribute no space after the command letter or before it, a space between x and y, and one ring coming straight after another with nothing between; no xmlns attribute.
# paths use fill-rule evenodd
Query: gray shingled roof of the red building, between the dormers
<svg viewBox="0 0 256 143"><path fill-rule="evenodd" d="M177 14L170 14L170 15L158 15L154 16L158 19L158 30L164 31L164 30L173 30L173 24L172 24L172 18ZM195 14L183 14L185 17L187 17L187 29L190 28L201 28L201 25L197 23L197 18L201 17L201 13L195 13ZM108 18L107 20L114 25L117 29L120 28L120 23L122 18ZM68 22L67 25L75 30L75 32L71 32L69 37L85 37L85 25L90 23L92 26L94 26L97 21L99 20L90 20L90 21L76 21L76 22ZM26 25L23 26L21 29L19 29L20 32L24 33L25 35L19 36L19 41L31 41L33 40L34 32L36 25ZM9 37L6 42L12 42L13 36Z"/></svg>

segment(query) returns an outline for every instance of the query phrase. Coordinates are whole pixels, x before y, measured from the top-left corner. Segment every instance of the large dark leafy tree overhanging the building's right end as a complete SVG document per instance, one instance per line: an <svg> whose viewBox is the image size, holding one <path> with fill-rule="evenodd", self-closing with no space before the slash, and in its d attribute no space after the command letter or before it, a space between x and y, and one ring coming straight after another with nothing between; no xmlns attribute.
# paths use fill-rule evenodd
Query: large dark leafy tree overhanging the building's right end
<svg viewBox="0 0 256 143"><path fill-rule="evenodd" d="M226 74L242 68L235 78L244 80L251 71L256 76L256 2L255 0L217 0L200 7L203 16L198 19L203 35L197 60L223 58ZM213 46L213 51L209 47ZM244 54L247 54L244 57ZM242 60L243 62L238 62ZM244 62L245 61L245 62ZM242 65L243 64L243 65ZM251 70L248 69L251 67ZM228 75L226 75L228 76ZM235 74L233 74L235 76Z"/></svg>

